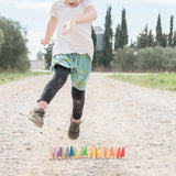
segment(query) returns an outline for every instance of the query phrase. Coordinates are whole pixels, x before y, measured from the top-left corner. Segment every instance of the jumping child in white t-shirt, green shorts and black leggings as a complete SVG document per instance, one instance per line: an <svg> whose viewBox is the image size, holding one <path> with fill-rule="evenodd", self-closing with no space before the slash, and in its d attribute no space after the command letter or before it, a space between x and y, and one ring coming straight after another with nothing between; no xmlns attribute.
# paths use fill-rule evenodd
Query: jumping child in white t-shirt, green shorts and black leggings
<svg viewBox="0 0 176 176"><path fill-rule="evenodd" d="M38 128L43 127L43 118L48 103L72 74L73 114L68 129L68 136L72 140L79 136L85 90L94 54L90 22L96 19L97 11L91 0L57 0L51 9L45 38L41 41L43 45L50 44L58 25L51 67L55 74L37 100L37 107L30 112L30 120Z"/></svg>

